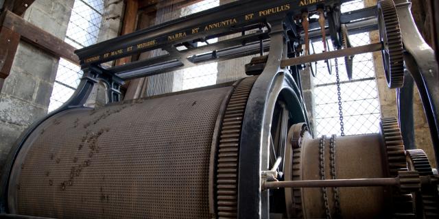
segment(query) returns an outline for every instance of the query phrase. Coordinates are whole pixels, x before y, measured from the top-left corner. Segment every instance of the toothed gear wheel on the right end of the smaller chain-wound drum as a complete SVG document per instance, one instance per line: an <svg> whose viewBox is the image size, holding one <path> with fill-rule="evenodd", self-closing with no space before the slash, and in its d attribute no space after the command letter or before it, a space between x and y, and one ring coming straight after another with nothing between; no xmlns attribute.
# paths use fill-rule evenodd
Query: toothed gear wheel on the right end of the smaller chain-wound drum
<svg viewBox="0 0 439 219"><path fill-rule="evenodd" d="M396 118L381 118L381 134L385 143L389 177L398 177L400 171L407 171L403 137ZM392 218L414 218L413 200L410 192L392 190Z"/></svg>

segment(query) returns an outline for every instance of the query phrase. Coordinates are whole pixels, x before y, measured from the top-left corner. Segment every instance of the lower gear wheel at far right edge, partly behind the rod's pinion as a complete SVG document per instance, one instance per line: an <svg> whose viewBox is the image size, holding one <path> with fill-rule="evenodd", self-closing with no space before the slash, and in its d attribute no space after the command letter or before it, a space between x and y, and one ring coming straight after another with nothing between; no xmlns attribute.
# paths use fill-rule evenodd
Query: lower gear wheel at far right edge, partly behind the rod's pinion
<svg viewBox="0 0 439 219"><path fill-rule="evenodd" d="M433 176L433 170L428 161L425 152L420 149L407 150L407 164L410 170L416 170L421 176ZM415 194L418 196L419 194ZM435 186L427 185L420 188L420 198L417 198L417 203L423 209L425 219L439 218L439 194Z"/></svg>

